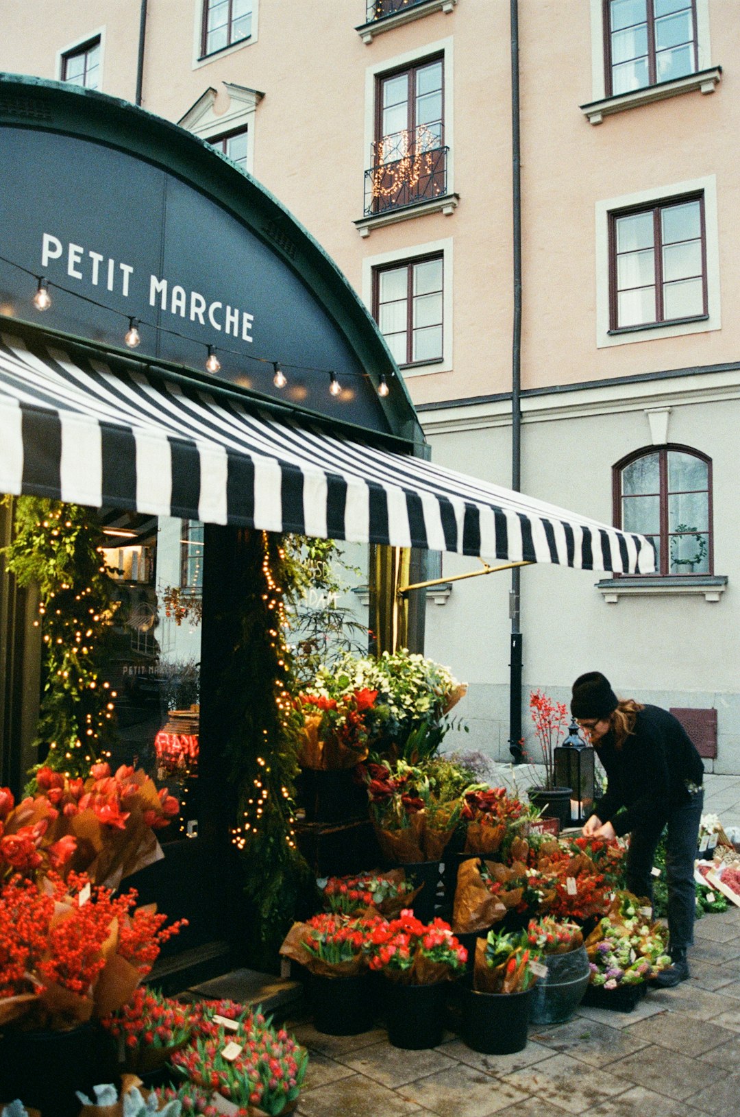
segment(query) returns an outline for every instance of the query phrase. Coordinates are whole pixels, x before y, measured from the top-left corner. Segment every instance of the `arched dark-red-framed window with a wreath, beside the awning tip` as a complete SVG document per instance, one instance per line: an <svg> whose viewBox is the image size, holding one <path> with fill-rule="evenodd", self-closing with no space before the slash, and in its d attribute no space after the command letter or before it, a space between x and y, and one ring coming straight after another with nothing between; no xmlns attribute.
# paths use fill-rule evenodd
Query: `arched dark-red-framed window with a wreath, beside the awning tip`
<svg viewBox="0 0 740 1117"><path fill-rule="evenodd" d="M656 573L711 574L712 462L685 446L650 447L614 467L617 527L655 544Z"/></svg>

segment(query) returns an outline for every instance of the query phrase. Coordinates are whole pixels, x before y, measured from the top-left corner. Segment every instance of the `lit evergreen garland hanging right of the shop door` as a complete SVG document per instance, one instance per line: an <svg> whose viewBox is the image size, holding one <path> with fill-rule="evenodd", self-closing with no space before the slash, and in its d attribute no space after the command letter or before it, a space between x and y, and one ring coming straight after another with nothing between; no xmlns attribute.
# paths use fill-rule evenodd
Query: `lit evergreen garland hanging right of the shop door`
<svg viewBox="0 0 740 1117"><path fill-rule="evenodd" d="M225 680L233 732L225 754L237 787L232 841L266 956L282 942L316 882L296 844L295 780L302 716L286 640L289 572L280 536L253 532L251 581Z"/></svg>

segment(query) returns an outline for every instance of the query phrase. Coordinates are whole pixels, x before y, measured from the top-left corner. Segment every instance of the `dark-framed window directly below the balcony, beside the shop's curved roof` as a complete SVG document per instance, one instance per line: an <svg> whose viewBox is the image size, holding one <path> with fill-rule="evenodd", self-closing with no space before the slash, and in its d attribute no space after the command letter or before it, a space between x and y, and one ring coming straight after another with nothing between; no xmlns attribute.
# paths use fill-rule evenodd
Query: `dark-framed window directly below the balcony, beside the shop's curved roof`
<svg viewBox="0 0 740 1117"><path fill-rule="evenodd" d="M441 252L373 271L373 314L397 364L442 360L443 305Z"/></svg>

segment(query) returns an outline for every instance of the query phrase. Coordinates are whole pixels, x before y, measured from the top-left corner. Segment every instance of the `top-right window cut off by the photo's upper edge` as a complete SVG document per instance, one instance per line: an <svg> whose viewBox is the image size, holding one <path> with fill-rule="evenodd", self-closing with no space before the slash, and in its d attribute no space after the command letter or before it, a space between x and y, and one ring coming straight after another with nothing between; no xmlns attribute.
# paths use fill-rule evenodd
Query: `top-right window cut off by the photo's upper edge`
<svg viewBox="0 0 740 1117"><path fill-rule="evenodd" d="M698 69L695 0L605 0L607 96Z"/></svg>

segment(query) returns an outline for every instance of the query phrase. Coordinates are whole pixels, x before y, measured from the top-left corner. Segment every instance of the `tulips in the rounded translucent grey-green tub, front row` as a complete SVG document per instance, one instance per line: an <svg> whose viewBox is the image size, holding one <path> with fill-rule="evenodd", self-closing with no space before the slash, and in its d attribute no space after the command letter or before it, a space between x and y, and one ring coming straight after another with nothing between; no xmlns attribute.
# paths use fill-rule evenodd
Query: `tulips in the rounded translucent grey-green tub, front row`
<svg viewBox="0 0 740 1117"><path fill-rule="evenodd" d="M559 1024L569 1020L590 977L580 927L544 916L530 920L527 942L540 952L547 967L546 976L535 986L530 1020L536 1024Z"/></svg>

